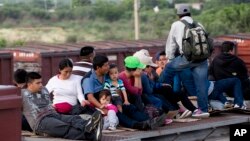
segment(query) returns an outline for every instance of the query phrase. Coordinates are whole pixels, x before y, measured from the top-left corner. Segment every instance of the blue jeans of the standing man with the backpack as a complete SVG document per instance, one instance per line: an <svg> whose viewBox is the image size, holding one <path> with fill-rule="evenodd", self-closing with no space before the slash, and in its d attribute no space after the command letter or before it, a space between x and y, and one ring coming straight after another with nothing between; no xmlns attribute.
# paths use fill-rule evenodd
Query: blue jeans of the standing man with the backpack
<svg viewBox="0 0 250 141"><path fill-rule="evenodd" d="M183 71L185 69L190 69L194 85L189 84L187 89L195 88L197 96L197 103L199 108L203 112L208 111L208 88L207 88L207 73L208 73L208 64L207 60L199 63L188 62L184 56L178 56L172 60L172 62L168 63L163 70L163 74L160 76L159 81L173 84L173 77L178 71ZM184 76L183 76L184 77ZM184 77L185 78L185 77ZM185 79L182 79L185 80Z"/></svg>

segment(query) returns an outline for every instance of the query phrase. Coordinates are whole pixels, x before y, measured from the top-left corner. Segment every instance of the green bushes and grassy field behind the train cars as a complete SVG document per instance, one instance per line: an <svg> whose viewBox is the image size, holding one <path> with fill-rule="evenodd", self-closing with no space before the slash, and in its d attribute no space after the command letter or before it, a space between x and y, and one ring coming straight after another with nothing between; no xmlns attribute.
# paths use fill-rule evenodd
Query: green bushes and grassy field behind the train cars
<svg viewBox="0 0 250 141"><path fill-rule="evenodd" d="M134 0L27 0L26 3L5 4L0 8L1 27L59 27L65 32L63 41L131 40L134 39ZM62 4L68 2L67 4ZM67 1L67 2L66 2ZM174 0L204 2L202 11L192 9L192 16L211 35L250 32L250 0ZM226 1L226 2L225 2ZM56 7L55 7L56 6ZM155 13L153 8L160 11ZM171 24L178 20L176 11L167 0L141 0L140 38L166 38ZM55 12L49 12L55 9ZM76 34L77 33L77 34ZM32 35L31 35L32 36ZM29 38L25 38L29 39ZM4 39L5 40L5 39ZM6 38L7 40L7 38ZM16 39L15 39L16 40ZM7 46L7 40L5 43ZM12 43L12 41L10 41ZM21 45L20 41L14 41Z"/></svg>

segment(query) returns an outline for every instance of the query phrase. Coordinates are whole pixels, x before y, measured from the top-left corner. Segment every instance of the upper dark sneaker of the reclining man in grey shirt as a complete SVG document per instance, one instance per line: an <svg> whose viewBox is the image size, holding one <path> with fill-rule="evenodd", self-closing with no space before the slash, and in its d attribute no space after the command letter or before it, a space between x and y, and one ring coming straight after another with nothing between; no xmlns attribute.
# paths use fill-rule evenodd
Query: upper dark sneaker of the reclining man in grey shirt
<svg viewBox="0 0 250 141"><path fill-rule="evenodd" d="M91 115L91 118L88 120L88 123L85 125L85 132L90 133L93 129L95 129L101 119L102 119L101 112L95 111Z"/></svg>

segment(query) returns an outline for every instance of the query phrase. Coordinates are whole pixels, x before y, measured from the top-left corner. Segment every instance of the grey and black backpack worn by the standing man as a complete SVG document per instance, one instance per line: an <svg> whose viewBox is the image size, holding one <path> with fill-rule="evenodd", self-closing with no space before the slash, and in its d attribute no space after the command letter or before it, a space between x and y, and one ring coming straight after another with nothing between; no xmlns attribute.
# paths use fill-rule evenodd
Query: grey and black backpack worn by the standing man
<svg viewBox="0 0 250 141"><path fill-rule="evenodd" d="M197 22L192 24L181 20L185 24L182 41L182 51L188 61L199 62L207 59L212 53L212 40Z"/></svg>

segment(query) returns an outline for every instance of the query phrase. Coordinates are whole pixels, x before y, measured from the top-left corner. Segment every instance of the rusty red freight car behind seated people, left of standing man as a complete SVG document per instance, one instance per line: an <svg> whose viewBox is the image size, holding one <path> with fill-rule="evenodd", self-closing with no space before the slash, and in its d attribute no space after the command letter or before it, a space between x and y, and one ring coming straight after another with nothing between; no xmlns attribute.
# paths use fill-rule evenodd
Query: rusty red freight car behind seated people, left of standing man
<svg viewBox="0 0 250 141"><path fill-rule="evenodd" d="M139 41L97 41L76 44L30 43L24 47L9 48L14 55L14 66L28 71L38 71L43 76L43 83L58 73L58 64L62 58L79 60L79 51L83 46L94 46L97 54L106 55L111 63L123 69L123 60L140 49L149 50L150 54L164 50L164 40ZM32 68L33 67L33 68Z"/></svg>

